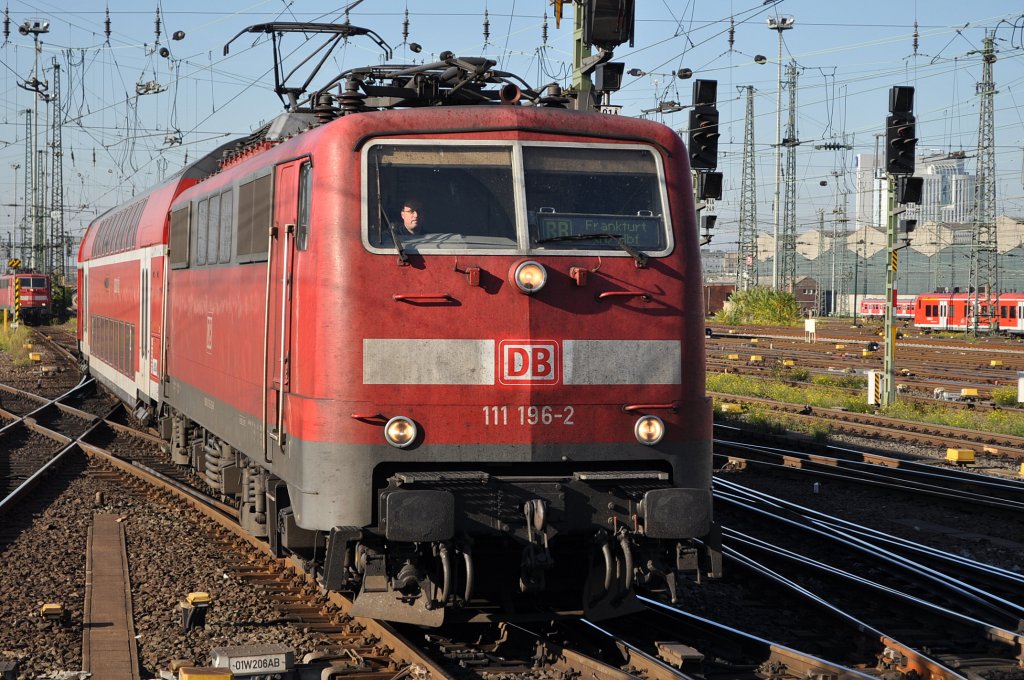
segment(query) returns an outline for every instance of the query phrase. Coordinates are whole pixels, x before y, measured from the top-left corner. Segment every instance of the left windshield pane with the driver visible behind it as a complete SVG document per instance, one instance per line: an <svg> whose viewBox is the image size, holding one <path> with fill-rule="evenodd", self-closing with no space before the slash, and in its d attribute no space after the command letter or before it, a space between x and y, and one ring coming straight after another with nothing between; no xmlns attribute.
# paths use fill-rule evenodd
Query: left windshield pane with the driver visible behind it
<svg viewBox="0 0 1024 680"><path fill-rule="evenodd" d="M415 225L402 214L410 202ZM514 248L512 150L375 145L367 157L367 206L374 247L393 247L390 224L402 245L419 253Z"/></svg>

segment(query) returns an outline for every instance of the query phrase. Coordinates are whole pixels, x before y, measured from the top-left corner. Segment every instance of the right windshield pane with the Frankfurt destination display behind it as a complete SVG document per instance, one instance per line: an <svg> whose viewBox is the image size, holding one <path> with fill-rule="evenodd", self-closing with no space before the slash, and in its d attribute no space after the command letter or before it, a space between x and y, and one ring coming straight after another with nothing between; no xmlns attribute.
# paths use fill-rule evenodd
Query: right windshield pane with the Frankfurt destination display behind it
<svg viewBox="0 0 1024 680"><path fill-rule="evenodd" d="M530 246L557 250L669 247L663 178L642 148L525 146Z"/></svg>

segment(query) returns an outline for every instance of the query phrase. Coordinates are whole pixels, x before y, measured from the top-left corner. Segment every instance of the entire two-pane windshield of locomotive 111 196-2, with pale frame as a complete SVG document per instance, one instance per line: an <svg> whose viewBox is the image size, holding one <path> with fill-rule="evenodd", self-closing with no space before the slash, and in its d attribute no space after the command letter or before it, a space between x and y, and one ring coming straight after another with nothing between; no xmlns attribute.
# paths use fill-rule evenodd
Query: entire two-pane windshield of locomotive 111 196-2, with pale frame
<svg viewBox="0 0 1024 680"><path fill-rule="evenodd" d="M366 178L373 248L671 251L664 175L647 147L380 143Z"/></svg>

